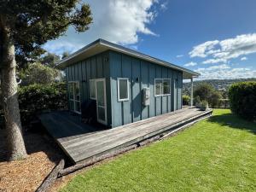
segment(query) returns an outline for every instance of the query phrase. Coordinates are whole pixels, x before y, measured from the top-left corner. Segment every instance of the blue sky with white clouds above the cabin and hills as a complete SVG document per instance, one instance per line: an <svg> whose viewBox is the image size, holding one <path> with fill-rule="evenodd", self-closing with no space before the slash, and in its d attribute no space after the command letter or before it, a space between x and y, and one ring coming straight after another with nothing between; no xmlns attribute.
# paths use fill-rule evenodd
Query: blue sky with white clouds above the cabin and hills
<svg viewBox="0 0 256 192"><path fill-rule="evenodd" d="M88 0L90 30L44 45L61 55L103 38L201 73L256 78L255 0Z"/></svg>

